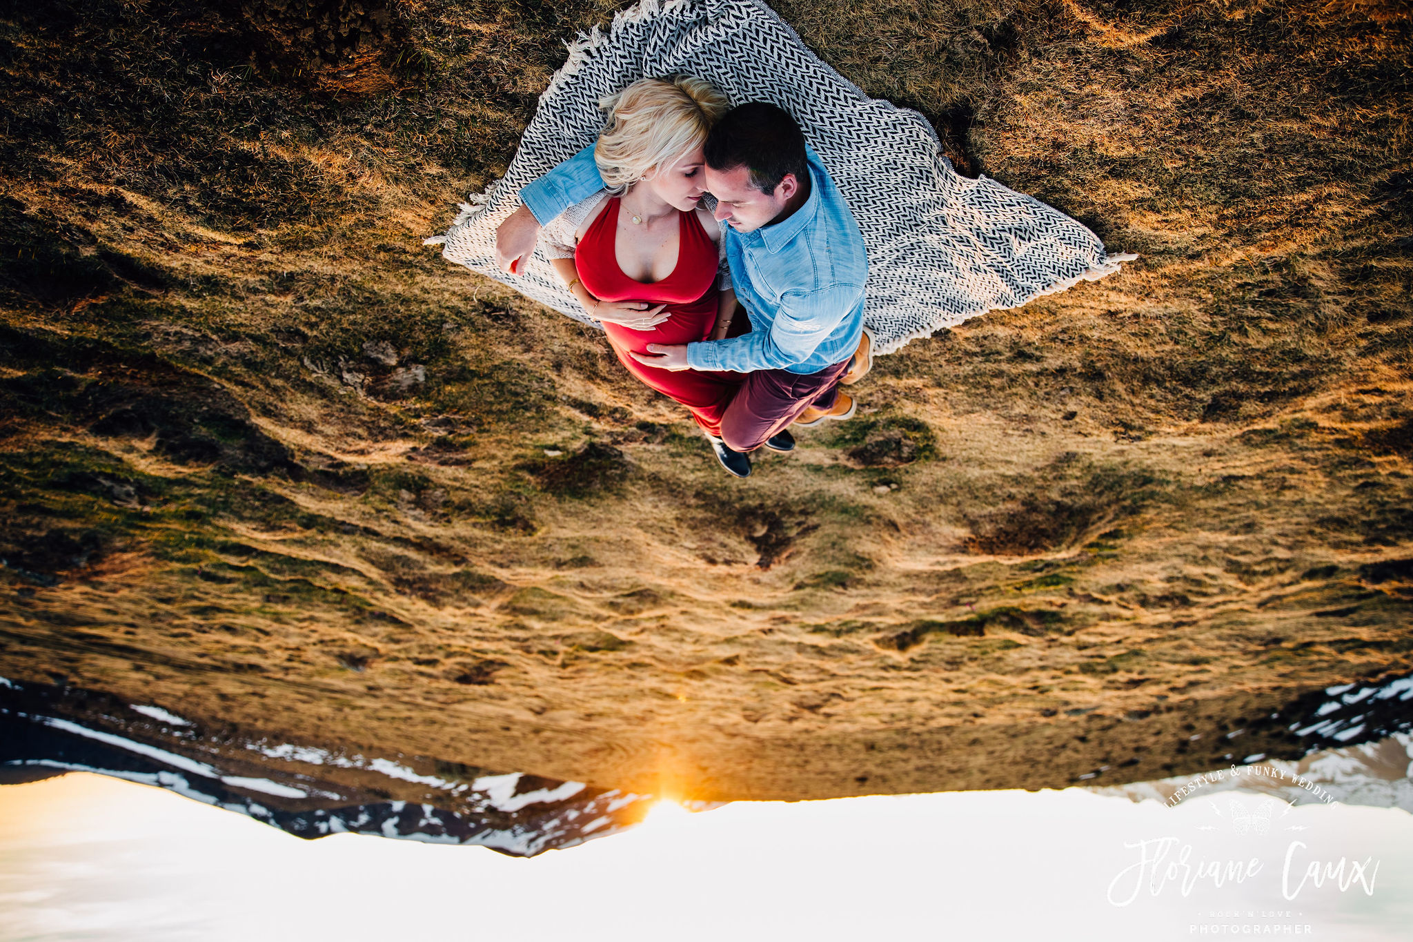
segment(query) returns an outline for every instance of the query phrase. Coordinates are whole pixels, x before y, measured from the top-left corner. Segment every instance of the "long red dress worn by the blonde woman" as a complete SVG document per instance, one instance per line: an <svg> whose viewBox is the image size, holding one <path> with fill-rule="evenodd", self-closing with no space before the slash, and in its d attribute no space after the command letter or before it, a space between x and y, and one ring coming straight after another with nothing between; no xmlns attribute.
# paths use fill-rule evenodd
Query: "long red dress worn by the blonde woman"
<svg viewBox="0 0 1413 942"><path fill-rule="evenodd" d="M602 301L646 301L666 304L671 319L651 330L633 330L619 323L605 323L603 332L627 371L650 388L671 397L692 412L697 424L711 435L721 435L721 417L740 387L732 374L697 370L660 370L643 366L627 354L647 353L649 343L695 343L705 340L716 323L716 244L702 229L697 212L677 212L678 253L673 273L653 284L633 281L617 264L619 199L613 196L598 219L584 233L574 250L579 281Z"/></svg>

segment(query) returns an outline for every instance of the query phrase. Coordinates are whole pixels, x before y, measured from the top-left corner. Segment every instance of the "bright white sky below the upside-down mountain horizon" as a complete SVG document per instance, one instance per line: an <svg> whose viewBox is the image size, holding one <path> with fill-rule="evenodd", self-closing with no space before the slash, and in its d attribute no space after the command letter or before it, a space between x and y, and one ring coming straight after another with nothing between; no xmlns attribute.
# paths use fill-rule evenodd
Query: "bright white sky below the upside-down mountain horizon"
<svg viewBox="0 0 1413 942"><path fill-rule="evenodd" d="M1166 808L1070 788L738 802L698 815L664 804L627 833L520 860L355 835L305 842L81 773L0 788L0 939L1234 938L1197 928L1222 924L1260 938L1413 935L1413 815L1276 804L1266 835L1238 833L1234 821L1263 801L1224 794ZM1119 901L1139 886L1132 870L1119 877L1139 860L1125 842L1164 836L1177 839L1173 857L1191 846L1194 867L1256 859L1260 870L1187 897L1169 883L1111 904L1111 883ZM1307 845L1293 880L1311 860L1368 859L1373 894L1307 883L1282 900L1293 840Z"/></svg>

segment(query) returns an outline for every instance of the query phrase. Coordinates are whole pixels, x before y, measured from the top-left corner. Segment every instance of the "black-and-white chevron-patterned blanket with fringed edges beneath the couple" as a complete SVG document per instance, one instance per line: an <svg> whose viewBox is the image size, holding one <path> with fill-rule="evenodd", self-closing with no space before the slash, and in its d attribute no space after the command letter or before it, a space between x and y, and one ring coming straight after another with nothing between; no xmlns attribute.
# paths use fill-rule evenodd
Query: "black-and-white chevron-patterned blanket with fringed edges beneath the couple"
<svg viewBox="0 0 1413 942"><path fill-rule="evenodd" d="M1085 226L1031 196L959 177L927 119L868 97L760 0L642 0L606 32L581 35L504 178L462 203L451 229L427 244L588 322L540 251L516 275L496 268L496 226L523 186L598 138L599 97L675 72L711 79L732 102L774 102L800 121L863 230L865 323L876 353L1113 274L1136 257L1106 254Z"/></svg>

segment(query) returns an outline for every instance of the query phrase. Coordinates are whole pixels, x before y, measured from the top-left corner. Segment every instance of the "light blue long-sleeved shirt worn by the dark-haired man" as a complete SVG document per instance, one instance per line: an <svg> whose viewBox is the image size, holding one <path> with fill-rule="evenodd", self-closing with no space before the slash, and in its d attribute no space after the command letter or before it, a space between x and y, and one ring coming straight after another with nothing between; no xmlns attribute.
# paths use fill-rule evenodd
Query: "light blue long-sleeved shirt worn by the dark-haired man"
<svg viewBox="0 0 1413 942"><path fill-rule="evenodd" d="M859 345L869 268L863 236L820 155L805 153L814 185L794 215L747 233L726 227L731 280L750 333L688 343L694 370L818 373ZM521 189L520 199L545 223L602 188L591 145Z"/></svg>

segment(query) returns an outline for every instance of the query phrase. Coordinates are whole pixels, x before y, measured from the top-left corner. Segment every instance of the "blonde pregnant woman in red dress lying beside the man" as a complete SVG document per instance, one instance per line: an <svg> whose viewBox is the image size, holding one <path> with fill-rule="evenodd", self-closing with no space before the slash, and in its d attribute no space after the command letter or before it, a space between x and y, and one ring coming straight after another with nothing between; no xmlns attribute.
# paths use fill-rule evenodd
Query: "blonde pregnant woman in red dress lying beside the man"
<svg viewBox="0 0 1413 942"><path fill-rule="evenodd" d="M722 223L698 202L702 144L731 106L704 79L640 79L606 97L609 121L593 160L605 188L544 229L545 253L589 316L603 325L623 367L691 410L728 472L749 463L721 443L721 418L742 374L646 366L649 343L719 340L736 295Z"/></svg>

